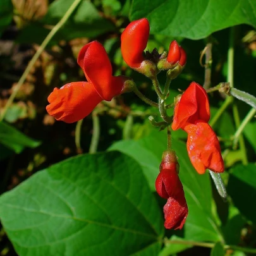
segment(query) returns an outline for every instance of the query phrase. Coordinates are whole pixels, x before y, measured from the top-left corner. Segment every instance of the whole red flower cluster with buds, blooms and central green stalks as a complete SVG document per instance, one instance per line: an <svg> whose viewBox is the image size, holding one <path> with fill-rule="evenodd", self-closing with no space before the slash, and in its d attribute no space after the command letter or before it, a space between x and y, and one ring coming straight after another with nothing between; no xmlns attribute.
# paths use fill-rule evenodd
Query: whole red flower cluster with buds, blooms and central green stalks
<svg viewBox="0 0 256 256"><path fill-rule="evenodd" d="M146 18L132 21L121 35L121 52L128 66L152 80L159 98L158 103L139 92L131 78L113 76L104 47L93 41L82 47L77 59L87 82L71 82L60 89L54 88L48 97L50 104L46 107L47 112L57 120L73 123L88 116L99 102L111 101L116 95L133 90L150 106L159 107L163 121L154 121L154 116L150 116L149 120L161 130L168 127L168 141L171 141L170 126L173 130L181 128L188 133L186 147L190 161L198 173L205 173L205 169L223 172L224 162L219 141L208 124L210 107L204 88L192 82L181 97L176 99L173 123L166 112L168 107L165 100L169 97L169 85L185 67L186 52L176 40L171 42L168 52L159 54L157 49L144 52L149 31L149 21ZM164 90L157 80L160 71L166 71ZM164 226L167 229L181 229L188 216L188 206L178 172L176 154L171 150L171 145L168 145L168 150L162 155L160 173L155 181L157 193L168 200L164 205Z"/></svg>

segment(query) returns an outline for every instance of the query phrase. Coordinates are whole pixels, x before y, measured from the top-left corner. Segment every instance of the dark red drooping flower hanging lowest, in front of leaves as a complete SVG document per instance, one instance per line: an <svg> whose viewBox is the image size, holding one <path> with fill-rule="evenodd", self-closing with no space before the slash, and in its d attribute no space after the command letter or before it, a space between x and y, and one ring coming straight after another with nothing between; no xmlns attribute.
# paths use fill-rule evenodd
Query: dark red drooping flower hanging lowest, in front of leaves
<svg viewBox="0 0 256 256"><path fill-rule="evenodd" d="M183 228L188 216L188 206L178 171L179 164L175 152L164 152L160 173L155 180L155 189L160 197L168 199L164 205L164 226L167 229Z"/></svg>

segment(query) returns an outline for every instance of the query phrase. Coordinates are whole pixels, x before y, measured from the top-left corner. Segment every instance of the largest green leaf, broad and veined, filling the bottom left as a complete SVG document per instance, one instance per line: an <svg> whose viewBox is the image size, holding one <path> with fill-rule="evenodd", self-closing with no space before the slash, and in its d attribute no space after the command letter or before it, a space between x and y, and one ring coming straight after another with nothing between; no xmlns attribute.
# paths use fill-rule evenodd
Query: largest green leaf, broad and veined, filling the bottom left
<svg viewBox="0 0 256 256"><path fill-rule="evenodd" d="M80 155L0 197L20 256L157 255L162 213L140 166L119 152Z"/></svg>

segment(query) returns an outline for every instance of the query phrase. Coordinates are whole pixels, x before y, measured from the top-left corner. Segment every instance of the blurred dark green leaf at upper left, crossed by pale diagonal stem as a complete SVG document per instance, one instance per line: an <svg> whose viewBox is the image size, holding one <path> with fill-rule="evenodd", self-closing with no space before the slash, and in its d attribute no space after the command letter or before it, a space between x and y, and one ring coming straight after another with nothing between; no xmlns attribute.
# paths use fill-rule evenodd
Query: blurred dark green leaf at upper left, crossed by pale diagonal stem
<svg viewBox="0 0 256 256"><path fill-rule="evenodd" d="M50 4L48 12L44 19L41 21L46 25L55 25L64 16L73 0L58 0ZM94 4L90 1L82 1L78 8L71 16L71 18L64 24L52 40L71 40L77 37L97 37L109 31L115 30L113 23L99 15ZM18 37L18 42L42 42L49 30L39 24L32 24L24 28ZM29 35L33 34L31 38Z"/></svg>

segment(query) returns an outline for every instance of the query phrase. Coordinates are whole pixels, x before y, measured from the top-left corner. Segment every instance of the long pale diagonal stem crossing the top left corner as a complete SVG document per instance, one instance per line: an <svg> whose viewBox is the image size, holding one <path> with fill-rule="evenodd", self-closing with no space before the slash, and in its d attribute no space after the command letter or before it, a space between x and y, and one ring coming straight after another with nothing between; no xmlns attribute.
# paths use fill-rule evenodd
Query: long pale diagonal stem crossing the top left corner
<svg viewBox="0 0 256 256"><path fill-rule="evenodd" d="M70 8L68 8L68 11L66 11L65 15L52 28L52 30L49 32L49 34L46 36L46 38L44 39L44 41L40 45L39 49L37 49L37 52L35 52L35 55L31 59L30 63L28 63L27 68L25 69L25 71L24 71L23 75L21 76L20 80L18 81L15 89L13 89L13 92L12 92L11 96L9 97L8 101L6 102L6 105L4 106L3 112L1 113L1 116L0 116L0 121L3 121L4 116L6 115L6 111L8 110L9 106L11 106L11 104L13 103L13 101L16 97L16 94L20 90L21 85L23 85L23 83L25 82L28 74L30 73L30 70L32 70L32 68L33 68L35 62L37 61L37 59L39 58L40 54L44 51L47 44L50 42L52 37L54 37L56 32L58 32L59 28L61 28L64 25L64 23L66 23L68 18L70 18L70 15L73 13L75 8L78 6L78 4L80 4L81 1L82 0L75 0L73 2L73 4L71 4Z"/></svg>

